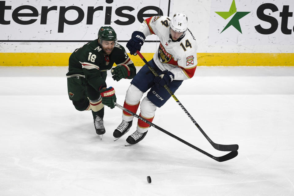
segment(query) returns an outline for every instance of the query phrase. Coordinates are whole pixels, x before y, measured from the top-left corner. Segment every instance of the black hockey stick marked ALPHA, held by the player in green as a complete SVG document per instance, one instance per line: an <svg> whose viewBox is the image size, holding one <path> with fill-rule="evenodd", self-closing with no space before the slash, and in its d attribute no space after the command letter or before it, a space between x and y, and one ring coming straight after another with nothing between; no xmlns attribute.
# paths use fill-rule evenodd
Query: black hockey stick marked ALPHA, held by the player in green
<svg viewBox="0 0 294 196"><path fill-rule="evenodd" d="M198 150L200 153L203 153L203 154L205 154L206 156L209 156L210 158L212 158L212 159L214 159L214 160L216 160L216 161L218 161L218 162L223 162L223 161L226 161L226 160L230 160L230 159L232 159L232 158L234 158L234 157L236 157L236 156L238 155L238 151L232 151L232 152L230 152L230 153L228 153L228 154L226 154L226 155L224 155L224 156L213 156L213 155L211 155L211 154L209 154L209 153L206 153L204 150L202 150L202 149L200 149L200 148L198 148L198 147L196 147L196 146L190 144L189 142L187 142L187 141L185 141L185 140L183 140L183 139L181 139L181 138L175 136L174 134L171 134L170 132L164 130L163 128L161 128L161 127L159 127L159 126L157 126L157 125L155 125L154 123L149 122L148 120L146 120L146 119L142 118L141 116L135 114L134 112L132 112L132 111L130 111L130 110L124 108L123 106L121 106L121 105L119 105L119 104L117 104L117 103L115 103L115 106L116 106L116 107L119 107L120 109L122 109L123 111L126 111L127 113L129 113L130 115L136 117L137 119L142 120L143 122L149 124L150 126L153 126L154 128L156 128L156 129L158 129L158 130L164 132L165 134L168 134L169 136L171 136L171 137L173 137L173 138L179 140L180 142L182 142L182 143L184 143L184 144L190 146L191 148L194 148L195 150Z"/></svg>

